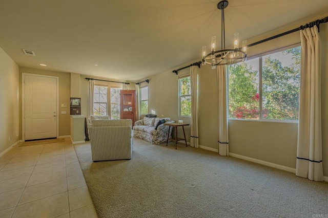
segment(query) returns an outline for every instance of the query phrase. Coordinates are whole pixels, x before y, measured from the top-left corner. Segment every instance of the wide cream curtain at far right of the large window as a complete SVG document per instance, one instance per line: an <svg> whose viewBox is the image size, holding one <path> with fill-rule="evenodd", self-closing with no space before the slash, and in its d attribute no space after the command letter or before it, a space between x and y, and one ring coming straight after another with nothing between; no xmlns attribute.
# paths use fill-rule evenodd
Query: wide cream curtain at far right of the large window
<svg viewBox="0 0 328 218"><path fill-rule="evenodd" d="M322 181L320 37L317 26L300 31L301 85L296 176Z"/></svg>

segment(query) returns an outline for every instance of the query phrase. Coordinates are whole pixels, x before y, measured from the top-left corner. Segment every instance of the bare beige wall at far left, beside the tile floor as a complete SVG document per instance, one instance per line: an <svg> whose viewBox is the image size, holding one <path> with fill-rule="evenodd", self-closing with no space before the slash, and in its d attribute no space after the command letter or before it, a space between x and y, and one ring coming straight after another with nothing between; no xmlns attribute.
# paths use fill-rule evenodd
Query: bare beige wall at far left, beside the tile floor
<svg viewBox="0 0 328 218"><path fill-rule="evenodd" d="M19 140L19 68L0 48L0 154Z"/></svg>

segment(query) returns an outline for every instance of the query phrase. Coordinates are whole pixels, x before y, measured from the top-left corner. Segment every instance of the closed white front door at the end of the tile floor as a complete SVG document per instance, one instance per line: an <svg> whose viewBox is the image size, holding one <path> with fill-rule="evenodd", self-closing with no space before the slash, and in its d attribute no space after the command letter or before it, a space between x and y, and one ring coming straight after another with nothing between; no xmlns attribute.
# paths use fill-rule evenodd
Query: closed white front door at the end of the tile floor
<svg viewBox="0 0 328 218"><path fill-rule="evenodd" d="M57 78L25 75L25 140L57 137Z"/></svg>

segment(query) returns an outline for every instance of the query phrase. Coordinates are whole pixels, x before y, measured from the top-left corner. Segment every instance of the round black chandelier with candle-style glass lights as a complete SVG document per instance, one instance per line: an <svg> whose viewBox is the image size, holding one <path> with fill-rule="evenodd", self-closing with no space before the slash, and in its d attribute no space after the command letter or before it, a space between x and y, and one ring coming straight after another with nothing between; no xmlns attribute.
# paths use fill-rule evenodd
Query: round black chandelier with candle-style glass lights
<svg viewBox="0 0 328 218"><path fill-rule="evenodd" d="M221 50L215 51L216 37L213 36L211 40L211 52L206 54L206 46L202 47L202 65L209 64L212 69L218 65L230 65L247 60L246 44L247 40L242 41L242 47L239 48L238 36L239 33L234 34L234 48L226 49L226 36L224 30L224 8L227 8L228 1L221 1L217 4L217 8L221 13Z"/></svg>

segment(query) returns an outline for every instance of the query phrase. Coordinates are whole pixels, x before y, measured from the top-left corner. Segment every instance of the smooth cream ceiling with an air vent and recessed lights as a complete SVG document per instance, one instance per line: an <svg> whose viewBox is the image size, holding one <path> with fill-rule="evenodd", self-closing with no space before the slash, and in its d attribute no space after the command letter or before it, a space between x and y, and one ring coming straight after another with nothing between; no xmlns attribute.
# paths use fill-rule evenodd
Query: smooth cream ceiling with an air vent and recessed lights
<svg viewBox="0 0 328 218"><path fill-rule="evenodd" d="M211 36L220 40L218 2L0 0L0 47L21 67L138 81L200 60ZM327 11L328 0L230 0L226 43Z"/></svg>

